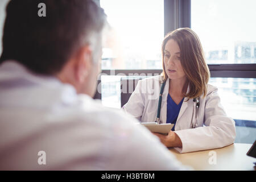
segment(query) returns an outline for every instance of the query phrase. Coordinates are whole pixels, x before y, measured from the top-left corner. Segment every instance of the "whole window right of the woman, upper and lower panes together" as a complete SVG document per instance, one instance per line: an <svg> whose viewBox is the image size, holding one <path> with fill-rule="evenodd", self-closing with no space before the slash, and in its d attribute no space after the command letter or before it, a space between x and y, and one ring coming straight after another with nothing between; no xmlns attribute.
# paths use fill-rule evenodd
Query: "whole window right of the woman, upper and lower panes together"
<svg viewBox="0 0 256 182"><path fill-rule="evenodd" d="M235 143L253 143L256 138L255 6L254 0L191 1L191 28L207 63L220 64L209 84L217 86L226 113L236 121Z"/></svg>

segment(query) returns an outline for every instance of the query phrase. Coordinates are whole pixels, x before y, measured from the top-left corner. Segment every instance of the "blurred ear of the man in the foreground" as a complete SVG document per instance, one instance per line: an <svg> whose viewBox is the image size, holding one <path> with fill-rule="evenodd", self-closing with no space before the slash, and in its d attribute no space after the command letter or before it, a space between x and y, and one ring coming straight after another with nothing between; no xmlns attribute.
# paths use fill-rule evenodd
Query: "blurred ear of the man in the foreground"
<svg viewBox="0 0 256 182"><path fill-rule="evenodd" d="M89 45L81 47L76 55L75 79L82 83L88 77L92 68L92 49Z"/></svg>

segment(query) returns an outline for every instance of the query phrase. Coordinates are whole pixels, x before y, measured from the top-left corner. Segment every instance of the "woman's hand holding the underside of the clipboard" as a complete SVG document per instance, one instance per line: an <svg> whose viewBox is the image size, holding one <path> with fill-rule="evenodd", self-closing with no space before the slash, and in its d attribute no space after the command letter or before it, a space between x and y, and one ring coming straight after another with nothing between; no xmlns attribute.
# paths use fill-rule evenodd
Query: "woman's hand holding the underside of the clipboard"
<svg viewBox="0 0 256 182"><path fill-rule="evenodd" d="M182 147L182 142L174 131L170 131L168 135L162 135L159 133L152 134L156 135L166 147Z"/></svg>

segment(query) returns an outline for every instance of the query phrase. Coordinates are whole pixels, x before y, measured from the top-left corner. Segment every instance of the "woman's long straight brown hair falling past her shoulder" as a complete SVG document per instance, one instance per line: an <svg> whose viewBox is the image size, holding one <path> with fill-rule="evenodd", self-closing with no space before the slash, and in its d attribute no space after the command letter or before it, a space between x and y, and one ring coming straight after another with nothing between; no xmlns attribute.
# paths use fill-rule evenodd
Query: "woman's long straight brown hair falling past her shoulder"
<svg viewBox="0 0 256 182"><path fill-rule="evenodd" d="M208 65L205 62L203 48L199 37L190 28L178 28L166 35L162 43L163 79L168 78L164 67L164 49L168 40L173 39L180 48L180 62L188 79L189 92L184 97L188 99L206 96L210 77Z"/></svg>

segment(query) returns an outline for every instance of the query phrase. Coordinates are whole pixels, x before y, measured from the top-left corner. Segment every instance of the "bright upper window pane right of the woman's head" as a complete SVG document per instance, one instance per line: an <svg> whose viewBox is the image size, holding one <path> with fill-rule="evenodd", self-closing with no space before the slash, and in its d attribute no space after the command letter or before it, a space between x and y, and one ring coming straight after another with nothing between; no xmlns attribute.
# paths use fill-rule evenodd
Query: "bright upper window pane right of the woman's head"
<svg viewBox="0 0 256 182"><path fill-rule="evenodd" d="M193 0L191 28L208 64L256 63L254 0Z"/></svg>

